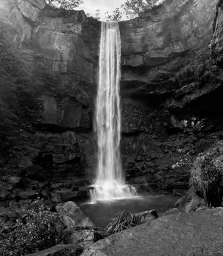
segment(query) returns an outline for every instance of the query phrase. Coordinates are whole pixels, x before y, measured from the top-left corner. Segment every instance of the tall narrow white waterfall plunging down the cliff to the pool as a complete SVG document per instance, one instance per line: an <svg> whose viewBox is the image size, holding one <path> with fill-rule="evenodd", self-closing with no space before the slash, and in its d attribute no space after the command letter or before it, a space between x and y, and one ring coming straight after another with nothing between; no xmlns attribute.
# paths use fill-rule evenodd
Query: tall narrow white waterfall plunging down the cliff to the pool
<svg viewBox="0 0 223 256"><path fill-rule="evenodd" d="M121 169L121 38L118 22L102 22L99 53L95 132L97 134L97 180L91 200L113 200L136 195L135 188L125 185Z"/></svg>

